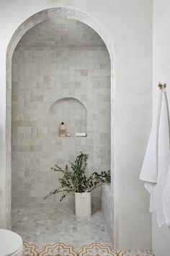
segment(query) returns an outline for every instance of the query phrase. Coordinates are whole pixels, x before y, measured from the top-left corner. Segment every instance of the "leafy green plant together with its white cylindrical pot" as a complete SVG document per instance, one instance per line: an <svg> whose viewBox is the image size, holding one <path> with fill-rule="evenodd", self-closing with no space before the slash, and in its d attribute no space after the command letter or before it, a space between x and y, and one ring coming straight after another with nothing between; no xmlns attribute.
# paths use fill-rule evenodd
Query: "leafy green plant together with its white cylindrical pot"
<svg viewBox="0 0 170 256"><path fill-rule="evenodd" d="M64 169L58 165L52 167L52 171L63 173L63 178L59 179L61 187L49 192L43 199L62 193L60 200L62 201L66 195L75 192L76 216L91 216L91 191L104 183L110 183L111 176L110 171L102 171L101 174L94 171L92 174L86 175L87 158L88 155L81 152L74 163L70 163L71 171L68 170L68 165Z"/></svg>

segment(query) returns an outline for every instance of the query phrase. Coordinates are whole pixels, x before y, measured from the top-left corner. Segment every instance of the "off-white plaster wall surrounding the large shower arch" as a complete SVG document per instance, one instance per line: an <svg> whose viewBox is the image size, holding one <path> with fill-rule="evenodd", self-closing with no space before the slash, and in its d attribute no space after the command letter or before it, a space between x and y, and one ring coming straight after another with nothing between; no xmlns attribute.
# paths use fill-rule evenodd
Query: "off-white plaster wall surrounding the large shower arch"
<svg viewBox="0 0 170 256"><path fill-rule="evenodd" d="M115 88L112 92L115 94L115 248L149 249L151 220L148 195L138 176L151 128L151 0L0 1L0 226L6 226L6 209L3 205L6 48L14 31L24 20L43 9L61 6L89 14L102 26L114 45Z"/></svg>

